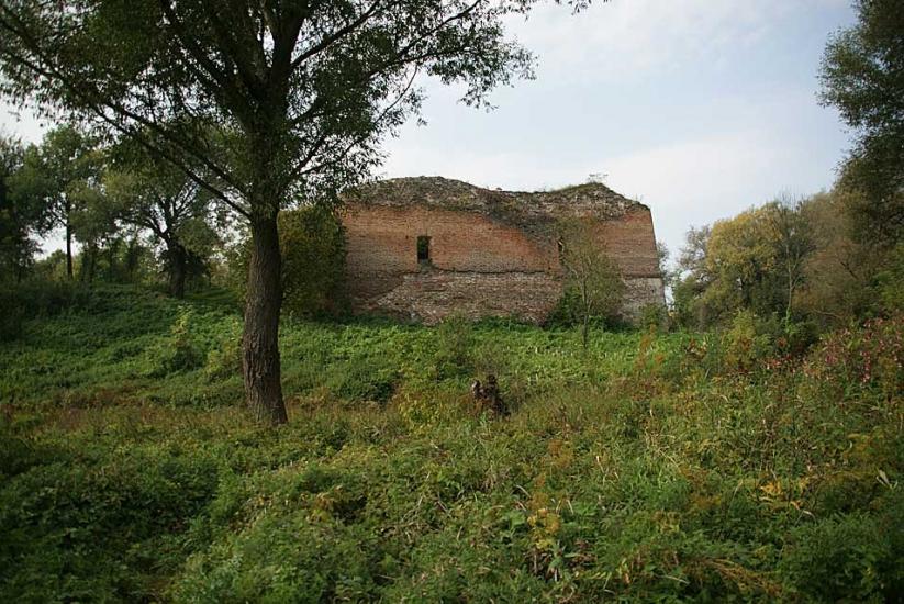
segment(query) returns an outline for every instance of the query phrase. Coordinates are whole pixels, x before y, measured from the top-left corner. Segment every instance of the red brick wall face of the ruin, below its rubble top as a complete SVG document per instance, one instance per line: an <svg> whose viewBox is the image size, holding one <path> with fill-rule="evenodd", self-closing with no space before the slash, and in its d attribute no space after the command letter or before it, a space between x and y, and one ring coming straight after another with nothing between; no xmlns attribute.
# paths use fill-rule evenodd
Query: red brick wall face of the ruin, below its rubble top
<svg viewBox="0 0 904 604"><path fill-rule="evenodd" d="M357 312L425 323L451 313L542 322L561 295L556 242L481 213L348 203L343 223ZM595 230L627 281L625 312L663 303L649 210L637 205ZM429 237L428 265L417 260L418 236Z"/></svg>

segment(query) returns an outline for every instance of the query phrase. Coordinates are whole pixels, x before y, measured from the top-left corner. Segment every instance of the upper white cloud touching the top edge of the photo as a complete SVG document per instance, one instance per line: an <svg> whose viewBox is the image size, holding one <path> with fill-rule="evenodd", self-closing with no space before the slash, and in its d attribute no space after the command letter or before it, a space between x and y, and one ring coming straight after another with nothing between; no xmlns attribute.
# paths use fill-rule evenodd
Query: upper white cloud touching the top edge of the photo
<svg viewBox="0 0 904 604"><path fill-rule="evenodd" d="M510 30L539 56L542 77L624 83L719 61L755 46L795 8L835 1L616 0L577 15L542 5Z"/></svg>

